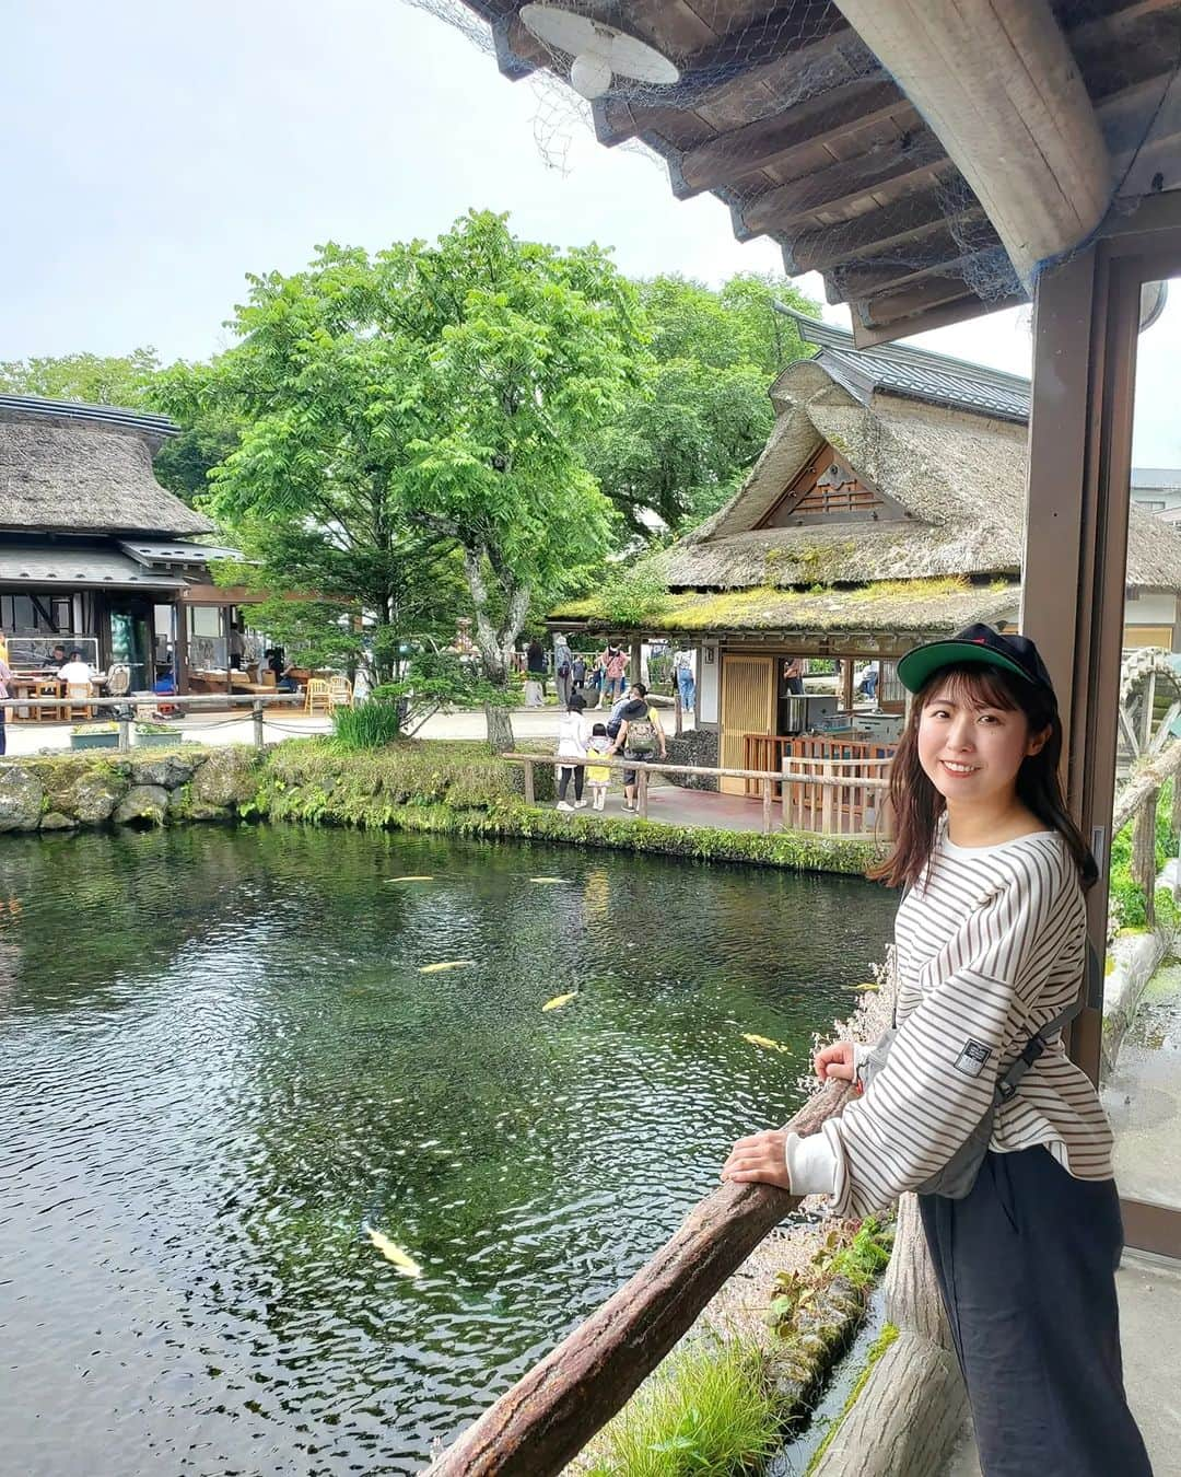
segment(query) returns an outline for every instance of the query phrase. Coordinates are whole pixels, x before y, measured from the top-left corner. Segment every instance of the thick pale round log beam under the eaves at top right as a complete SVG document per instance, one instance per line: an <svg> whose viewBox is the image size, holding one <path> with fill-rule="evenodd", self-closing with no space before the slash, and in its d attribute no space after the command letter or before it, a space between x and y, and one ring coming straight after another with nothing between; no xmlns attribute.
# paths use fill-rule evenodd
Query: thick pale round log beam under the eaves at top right
<svg viewBox="0 0 1181 1477"><path fill-rule="evenodd" d="M1026 285L1094 230L1112 165L1048 0L836 4L942 140Z"/></svg>

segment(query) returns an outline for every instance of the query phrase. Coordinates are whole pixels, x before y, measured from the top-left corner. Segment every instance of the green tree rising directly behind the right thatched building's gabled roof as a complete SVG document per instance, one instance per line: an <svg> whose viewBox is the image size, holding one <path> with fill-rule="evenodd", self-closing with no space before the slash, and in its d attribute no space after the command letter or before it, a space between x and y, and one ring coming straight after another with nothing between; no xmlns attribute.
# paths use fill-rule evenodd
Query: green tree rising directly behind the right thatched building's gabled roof
<svg viewBox="0 0 1181 1477"><path fill-rule="evenodd" d="M585 458L633 533L678 532L715 513L774 424L771 381L810 350L774 300L816 312L785 281L731 278L719 291L678 276L641 284L651 357Z"/></svg>

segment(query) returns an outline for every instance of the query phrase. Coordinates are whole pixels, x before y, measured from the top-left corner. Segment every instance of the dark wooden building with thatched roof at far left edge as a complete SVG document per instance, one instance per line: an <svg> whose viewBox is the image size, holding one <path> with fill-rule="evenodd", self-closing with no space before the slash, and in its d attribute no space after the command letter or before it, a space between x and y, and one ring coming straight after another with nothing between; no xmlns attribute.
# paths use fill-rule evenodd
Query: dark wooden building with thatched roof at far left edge
<svg viewBox="0 0 1181 1477"><path fill-rule="evenodd" d="M210 560L235 551L152 474L177 430L162 415L0 396L0 629L15 671L62 644L100 671L125 666L131 690L176 671L186 693L193 669L229 690L229 622L248 597L214 585Z"/></svg>

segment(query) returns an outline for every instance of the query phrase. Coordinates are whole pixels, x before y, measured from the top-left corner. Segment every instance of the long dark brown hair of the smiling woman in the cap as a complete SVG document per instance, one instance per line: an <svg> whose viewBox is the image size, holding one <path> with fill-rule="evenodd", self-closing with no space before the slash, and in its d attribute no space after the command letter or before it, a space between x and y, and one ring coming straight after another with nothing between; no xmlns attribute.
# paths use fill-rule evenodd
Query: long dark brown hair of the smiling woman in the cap
<svg viewBox="0 0 1181 1477"><path fill-rule="evenodd" d="M1023 678L995 666L957 663L933 672L915 694L906 728L890 765L890 806L895 814L895 846L886 861L871 867L867 876L890 888L914 886L927 858L934 849L939 817L946 801L932 784L918 761L918 724L923 707L936 688L946 685L951 696L961 694L971 703L1022 712L1030 734L1050 730L1042 747L1027 755L1017 771L1017 796L1022 803L1058 832L1079 868L1079 880L1089 888L1098 880L1098 867L1082 832L1070 820L1058 781L1061 759L1061 718L1051 688L1026 682Z"/></svg>

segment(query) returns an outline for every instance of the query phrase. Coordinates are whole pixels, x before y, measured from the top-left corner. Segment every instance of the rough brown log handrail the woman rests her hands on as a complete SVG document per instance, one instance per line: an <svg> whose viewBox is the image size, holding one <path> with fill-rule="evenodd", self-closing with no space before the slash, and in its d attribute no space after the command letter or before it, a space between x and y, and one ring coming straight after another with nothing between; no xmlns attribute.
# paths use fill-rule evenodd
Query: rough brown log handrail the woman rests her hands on
<svg viewBox="0 0 1181 1477"><path fill-rule="evenodd" d="M828 1083L787 1128L815 1133L850 1097L847 1083ZM772 1185L725 1183L713 1190L630 1282L431 1462L430 1477L559 1473L800 1199Z"/></svg>

